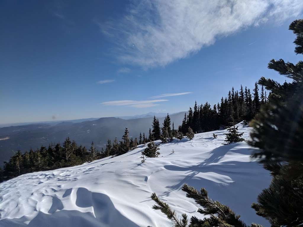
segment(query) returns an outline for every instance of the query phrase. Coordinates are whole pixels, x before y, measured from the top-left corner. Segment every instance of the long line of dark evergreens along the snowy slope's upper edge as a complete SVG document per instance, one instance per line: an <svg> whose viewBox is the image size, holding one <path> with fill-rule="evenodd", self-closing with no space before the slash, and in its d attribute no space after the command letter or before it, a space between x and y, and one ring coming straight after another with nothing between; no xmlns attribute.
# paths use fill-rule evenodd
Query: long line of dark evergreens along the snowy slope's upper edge
<svg viewBox="0 0 303 227"><path fill-rule="evenodd" d="M100 151L96 149L94 142L87 150L85 146L78 145L69 137L62 144L49 144L48 147L41 146L39 149L30 149L24 153L18 150L8 162L4 162L3 170L0 168L0 182L25 173L76 166L108 156L122 155L137 148L140 144L155 140L166 143L172 141L174 137L182 139L184 135L192 139L194 133L228 126L231 118L236 122L241 120L248 122L258 112L261 104L268 101L263 86L261 87L261 98L259 98L258 90L258 85L255 84L252 97L250 89L247 87L243 90L241 86L240 92L234 91L232 88L225 99L221 98L221 104L218 103L213 108L208 102L204 105L197 105L195 102L194 110L189 108L188 114L185 113L178 129L175 128L174 122L171 123L169 114L165 117L162 127L154 116L148 136L140 133L138 138L133 139L133 137L129 137L129 131L125 128L122 140L118 141L117 137L113 141L108 140L105 149L102 148Z"/></svg>

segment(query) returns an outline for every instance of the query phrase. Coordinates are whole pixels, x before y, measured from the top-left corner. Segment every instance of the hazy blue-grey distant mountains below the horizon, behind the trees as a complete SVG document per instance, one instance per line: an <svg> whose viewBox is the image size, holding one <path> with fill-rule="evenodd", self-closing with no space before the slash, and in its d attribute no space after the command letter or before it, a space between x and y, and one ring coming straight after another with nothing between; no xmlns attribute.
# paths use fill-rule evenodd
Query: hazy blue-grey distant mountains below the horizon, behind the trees
<svg viewBox="0 0 303 227"><path fill-rule="evenodd" d="M184 113L179 112L170 115L171 122L174 122L176 128L182 123ZM148 136L153 116L128 120L118 117L102 117L76 123L60 121L55 125L35 123L2 127L0 128L0 166L17 150L24 152L30 148L36 149L40 146L48 146L50 143L63 143L66 137L70 137L71 140L75 140L78 144L87 148L94 141L96 147L101 149L108 139L113 140L117 137L120 140L125 127L128 128L130 137L138 137L140 132ZM164 117L158 117L158 119L162 125Z"/></svg>

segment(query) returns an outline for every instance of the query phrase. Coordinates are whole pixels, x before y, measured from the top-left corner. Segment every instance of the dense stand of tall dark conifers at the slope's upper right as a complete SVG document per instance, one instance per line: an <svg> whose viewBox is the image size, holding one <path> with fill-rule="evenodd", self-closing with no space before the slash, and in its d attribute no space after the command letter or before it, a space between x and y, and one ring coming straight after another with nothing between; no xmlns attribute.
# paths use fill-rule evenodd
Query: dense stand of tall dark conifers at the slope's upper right
<svg viewBox="0 0 303 227"><path fill-rule="evenodd" d="M235 122L244 121L244 124L248 125L248 122L258 113L261 104L267 100L264 87L261 88L261 101L258 90L256 83L252 99L250 89L247 87L243 90L241 85L240 92L232 88L228 96L225 99L221 97L221 103L214 105L213 108L208 102L204 105L197 105L195 102L194 111L189 108L188 116L185 113L178 131L186 134L188 127L191 127L195 133L218 130L220 127L229 126L232 121L231 116L234 117Z"/></svg>

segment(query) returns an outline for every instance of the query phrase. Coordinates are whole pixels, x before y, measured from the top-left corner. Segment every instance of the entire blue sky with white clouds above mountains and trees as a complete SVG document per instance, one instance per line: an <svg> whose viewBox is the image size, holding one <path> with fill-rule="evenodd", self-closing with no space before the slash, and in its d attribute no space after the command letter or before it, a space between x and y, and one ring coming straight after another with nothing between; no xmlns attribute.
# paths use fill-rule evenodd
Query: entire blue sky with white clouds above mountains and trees
<svg viewBox="0 0 303 227"><path fill-rule="evenodd" d="M0 7L0 123L218 103L297 63L301 0L15 1Z"/></svg>

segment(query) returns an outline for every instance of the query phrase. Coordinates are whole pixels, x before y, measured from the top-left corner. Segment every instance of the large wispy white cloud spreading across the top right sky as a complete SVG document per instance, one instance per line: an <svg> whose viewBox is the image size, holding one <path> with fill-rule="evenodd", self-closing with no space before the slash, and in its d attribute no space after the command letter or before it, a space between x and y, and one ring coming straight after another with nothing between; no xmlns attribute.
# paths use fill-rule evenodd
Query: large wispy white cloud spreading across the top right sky
<svg viewBox="0 0 303 227"><path fill-rule="evenodd" d="M185 58L218 36L296 18L302 8L302 0L143 0L122 21L99 26L116 38L119 60L149 68Z"/></svg>

